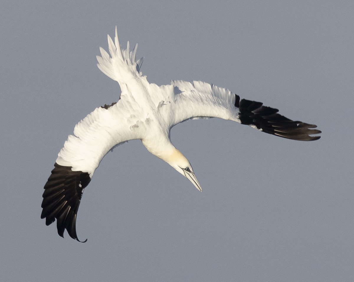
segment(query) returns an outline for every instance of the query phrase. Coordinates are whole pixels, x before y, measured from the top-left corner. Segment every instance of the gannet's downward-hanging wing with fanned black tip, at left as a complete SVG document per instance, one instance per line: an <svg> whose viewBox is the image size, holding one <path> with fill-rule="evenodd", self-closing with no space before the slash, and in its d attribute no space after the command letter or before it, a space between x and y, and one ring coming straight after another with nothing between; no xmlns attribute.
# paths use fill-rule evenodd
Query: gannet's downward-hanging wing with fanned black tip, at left
<svg viewBox="0 0 354 282"><path fill-rule="evenodd" d="M124 99L96 108L69 135L44 186L41 218L46 225L57 219L58 234L67 229L76 235L76 215L84 188L105 154L127 140L139 139L139 118L130 113ZM79 241L79 240L78 240Z"/></svg>

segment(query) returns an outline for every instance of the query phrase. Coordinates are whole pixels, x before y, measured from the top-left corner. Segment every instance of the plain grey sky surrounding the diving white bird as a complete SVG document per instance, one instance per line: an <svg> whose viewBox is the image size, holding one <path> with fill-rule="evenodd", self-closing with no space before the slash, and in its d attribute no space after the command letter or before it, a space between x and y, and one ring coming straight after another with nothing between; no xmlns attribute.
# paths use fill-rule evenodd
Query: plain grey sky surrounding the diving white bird
<svg viewBox="0 0 354 282"><path fill-rule="evenodd" d="M353 280L353 3L40 2L0 8L3 281ZM322 138L179 124L172 142L203 193L131 141L85 189L88 242L62 239L40 219L43 186L74 125L118 100L96 66L115 25L139 44L149 82L214 83Z"/></svg>

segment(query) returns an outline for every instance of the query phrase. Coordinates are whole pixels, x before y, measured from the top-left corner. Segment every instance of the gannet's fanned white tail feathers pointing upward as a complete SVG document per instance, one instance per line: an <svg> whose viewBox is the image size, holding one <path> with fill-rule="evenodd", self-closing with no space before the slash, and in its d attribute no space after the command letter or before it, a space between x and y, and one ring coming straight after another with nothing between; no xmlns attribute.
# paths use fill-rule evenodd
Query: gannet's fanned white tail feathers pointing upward
<svg viewBox="0 0 354 282"><path fill-rule="evenodd" d="M114 42L108 35L108 51L110 55L100 47L101 56L96 56L98 61L98 68L108 77L112 78L119 83L127 79L127 75L138 74L140 72L141 64L144 57L136 60L135 55L138 44L135 45L132 51L129 50L129 41L127 42L126 49L121 48L118 39L117 27L115 27Z"/></svg>

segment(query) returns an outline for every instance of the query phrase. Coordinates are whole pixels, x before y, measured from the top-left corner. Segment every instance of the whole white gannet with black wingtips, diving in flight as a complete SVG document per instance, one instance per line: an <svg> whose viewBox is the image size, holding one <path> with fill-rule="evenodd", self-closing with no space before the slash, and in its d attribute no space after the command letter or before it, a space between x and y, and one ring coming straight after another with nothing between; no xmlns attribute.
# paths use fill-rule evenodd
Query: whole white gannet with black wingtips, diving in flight
<svg viewBox="0 0 354 282"><path fill-rule="evenodd" d="M143 58L136 59L137 45L121 48L115 29L108 35L109 54L100 48L98 68L119 83L118 102L96 108L82 119L58 154L44 186L41 218L46 225L57 220L58 234L76 234L76 216L85 187L99 163L115 146L140 139L149 152L166 161L201 192L192 165L173 146L170 130L187 119L217 117L249 125L268 134L313 141L321 133L316 125L292 121L263 103L240 99L228 89L202 81L173 80L169 85L149 83L140 72ZM87 239L86 239L87 240ZM85 240L85 242L86 242ZM81 241L80 241L81 242Z"/></svg>

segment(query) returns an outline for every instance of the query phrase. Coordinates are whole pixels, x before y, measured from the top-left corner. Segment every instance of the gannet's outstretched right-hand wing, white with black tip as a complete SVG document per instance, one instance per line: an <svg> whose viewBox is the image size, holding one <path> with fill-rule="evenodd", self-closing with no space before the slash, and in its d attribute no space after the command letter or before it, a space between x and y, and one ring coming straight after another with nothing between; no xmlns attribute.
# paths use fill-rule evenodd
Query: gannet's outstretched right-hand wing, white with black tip
<svg viewBox="0 0 354 282"><path fill-rule="evenodd" d="M171 104L171 127L190 118L218 117L246 124L276 136L301 140L318 140L317 126L292 121L278 114L278 110L263 103L241 99L228 89L202 81L172 81L175 99Z"/></svg>

